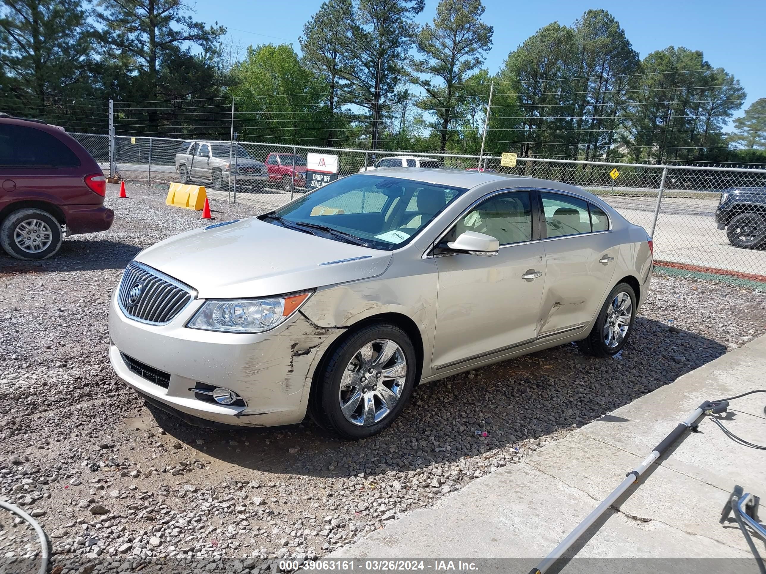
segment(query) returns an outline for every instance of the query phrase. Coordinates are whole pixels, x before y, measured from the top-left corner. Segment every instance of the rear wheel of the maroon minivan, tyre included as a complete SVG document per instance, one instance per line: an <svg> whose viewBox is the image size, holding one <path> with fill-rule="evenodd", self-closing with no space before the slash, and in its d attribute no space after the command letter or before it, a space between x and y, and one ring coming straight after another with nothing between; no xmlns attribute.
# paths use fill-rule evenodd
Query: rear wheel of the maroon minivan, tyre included
<svg viewBox="0 0 766 574"><path fill-rule="evenodd" d="M0 245L16 259L46 259L61 247L61 223L47 211L14 211L0 226Z"/></svg>

